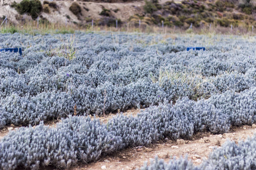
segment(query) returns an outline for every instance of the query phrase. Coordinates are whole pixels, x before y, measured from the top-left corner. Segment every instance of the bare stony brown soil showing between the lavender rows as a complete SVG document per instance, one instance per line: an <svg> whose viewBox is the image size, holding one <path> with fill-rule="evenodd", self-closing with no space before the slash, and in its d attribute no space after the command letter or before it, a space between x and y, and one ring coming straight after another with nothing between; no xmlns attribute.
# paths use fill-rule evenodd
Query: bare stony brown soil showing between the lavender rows
<svg viewBox="0 0 256 170"><path fill-rule="evenodd" d="M123 113L124 115L136 116L140 112L139 109L130 109L129 111ZM102 123L108 122L116 114L110 113L103 117L98 117ZM92 117L93 118L93 117ZM56 122L52 124L47 124L49 126L55 126ZM9 130L7 129L18 129L18 127L8 126L0 131L0 139L5 136ZM221 145L230 139L232 141L238 142L244 140L247 137L251 137L256 133L256 125L253 126L242 126L233 127L229 133L212 135L210 133L200 133L193 136L192 140L184 141L183 139L178 139L177 141L171 141L165 139L164 141L158 141L158 143L152 144L149 147L133 147L127 148L122 151L116 151L113 154L102 156L97 162L89 164L79 164L70 168L71 170L92 170L92 169L136 169L141 168L144 162L150 162L155 156L160 159L164 159L166 162L170 157L175 156L180 158L180 156L188 155L188 159L192 160L195 165L201 164L203 159L208 159L209 153L214 147L221 147ZM51 167L41 168L44 170L55 169Z"/></svg>

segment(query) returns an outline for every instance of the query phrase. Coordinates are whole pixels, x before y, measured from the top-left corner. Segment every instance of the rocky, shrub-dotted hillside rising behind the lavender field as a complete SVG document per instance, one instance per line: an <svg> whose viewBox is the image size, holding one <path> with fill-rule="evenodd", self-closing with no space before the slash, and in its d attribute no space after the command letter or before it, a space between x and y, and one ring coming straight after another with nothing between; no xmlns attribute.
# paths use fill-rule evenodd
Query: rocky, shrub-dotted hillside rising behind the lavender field
<svg viewBox="0 0 256 170"><path fill-rule="evenodd" d="M30 1L30 0L24 0ZM0 17L5 16L14 24L30 20L30 13L17 11L14 0L0 0ZM252 29L256 26L256 1L40 1L40 19L51 23L115 26L127 23L135 27L164 25L187 29L232 27ZM21 15L23 14L23 15ZM38 13L36 13L38 14ZM37 15L36 15L37 16ZM35 19L35 17L34 17Z"/></svg>

